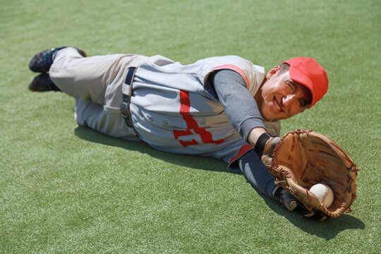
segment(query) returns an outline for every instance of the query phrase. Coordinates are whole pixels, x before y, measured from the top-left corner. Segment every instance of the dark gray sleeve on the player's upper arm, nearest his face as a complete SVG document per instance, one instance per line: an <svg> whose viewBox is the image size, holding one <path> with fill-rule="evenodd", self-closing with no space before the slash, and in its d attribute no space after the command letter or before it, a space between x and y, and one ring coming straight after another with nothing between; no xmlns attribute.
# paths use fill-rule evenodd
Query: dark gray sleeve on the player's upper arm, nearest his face
<svg viewBox="0 0 381 254"><path fill-rule="evenodd" d="M212 73L209 81L224 106L231 125L244 140L248 140L248 133L253 128L265 128L257 102L241 75L235 71L221 70Z"/></svg>

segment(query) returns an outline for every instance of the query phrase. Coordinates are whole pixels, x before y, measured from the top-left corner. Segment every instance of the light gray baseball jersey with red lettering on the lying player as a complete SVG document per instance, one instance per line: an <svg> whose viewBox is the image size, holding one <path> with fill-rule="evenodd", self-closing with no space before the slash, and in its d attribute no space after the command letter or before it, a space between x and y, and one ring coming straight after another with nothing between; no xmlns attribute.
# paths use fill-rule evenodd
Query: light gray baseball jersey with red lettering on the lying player
<svg viewBox="0 0 381 254"><path fill-rule="evenodd" d="M139 137L159 150L230 162L248 144L229 123L222 104L204 89L208 75L219 69L241 74L253 96L265 78L262 67L238 56L186 66L163 56L144 61L135 72L130 106Z"/></svg>

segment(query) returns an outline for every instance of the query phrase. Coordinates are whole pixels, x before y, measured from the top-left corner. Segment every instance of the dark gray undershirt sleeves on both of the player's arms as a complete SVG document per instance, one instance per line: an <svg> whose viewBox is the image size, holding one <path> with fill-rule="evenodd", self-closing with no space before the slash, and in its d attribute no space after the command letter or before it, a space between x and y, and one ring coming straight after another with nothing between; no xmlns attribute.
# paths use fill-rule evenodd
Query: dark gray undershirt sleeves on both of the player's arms
<svg viewBox="0 0 381 254"><path fill-rule="evenodd" d="M209 81L214 87L212 94L216 93L219 102L224 106L231 125L236 128L245 140L247 140L248 133L253 128L258 126L265 128L257 102L248 91L245 80L241 75L235 71L221 70L212 73ZM208 90L210 90L210 87L208 87ZM274 179L254 150L248 151L234 163L251 186L273 198ZM234 167L234 165L231 165L231 167Z"/></svg>

